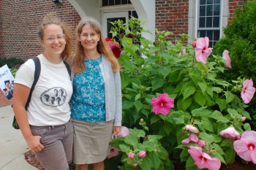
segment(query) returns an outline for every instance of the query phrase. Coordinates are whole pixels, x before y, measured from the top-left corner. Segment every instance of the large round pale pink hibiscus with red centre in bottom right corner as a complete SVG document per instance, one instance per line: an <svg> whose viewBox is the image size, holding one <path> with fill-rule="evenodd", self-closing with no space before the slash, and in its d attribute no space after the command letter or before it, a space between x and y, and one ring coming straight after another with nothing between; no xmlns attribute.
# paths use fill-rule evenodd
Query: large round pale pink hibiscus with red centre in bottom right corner
<svg viewBox="0 0 256 170"><path fill-rule="evenodd" d="M245 131L241 139L234 142L234 149L245 161L252 161L256 164L256 132Z"/></svg>

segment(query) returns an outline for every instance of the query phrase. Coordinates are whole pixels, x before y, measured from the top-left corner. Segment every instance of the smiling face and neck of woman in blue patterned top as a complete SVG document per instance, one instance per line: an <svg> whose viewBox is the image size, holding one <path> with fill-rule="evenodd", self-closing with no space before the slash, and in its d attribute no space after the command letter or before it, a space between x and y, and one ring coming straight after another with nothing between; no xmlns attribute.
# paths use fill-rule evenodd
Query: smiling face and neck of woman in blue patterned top
<svg viewBox="0 0 256 170"><path fill-rule="evenodd" d="M90 25L83 26L78 41L81 42L84 51L97 50L99 34Z"/></svg>

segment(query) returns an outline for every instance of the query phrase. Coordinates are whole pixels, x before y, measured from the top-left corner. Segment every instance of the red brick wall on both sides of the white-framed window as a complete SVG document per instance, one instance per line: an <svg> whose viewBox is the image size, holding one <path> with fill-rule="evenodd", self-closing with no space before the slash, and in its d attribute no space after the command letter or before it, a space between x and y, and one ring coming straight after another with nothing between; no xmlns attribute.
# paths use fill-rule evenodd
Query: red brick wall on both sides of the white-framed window
<svg viewBox="0 0 256 170"><path fill-rule="evenodd" d="M226 1L226 0L225 0ZM229 22L233 13L243 7L246 0L229 0ZM189 0L156 0L156 28L170 31L169 40L179 39L178 34L188 34Z"/></svg>

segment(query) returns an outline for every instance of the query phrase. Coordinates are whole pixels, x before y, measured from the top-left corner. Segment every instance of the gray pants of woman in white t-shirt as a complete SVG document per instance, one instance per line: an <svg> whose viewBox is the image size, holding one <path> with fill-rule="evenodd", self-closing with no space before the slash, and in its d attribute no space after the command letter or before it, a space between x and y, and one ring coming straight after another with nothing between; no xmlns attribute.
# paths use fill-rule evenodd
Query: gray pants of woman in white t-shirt
<svg viewBox="0 0 256 170"><path fill-rule="evenodd" d="M69 121L64 125L30 125L34 136L41 136L40 142L45 147L35 155L45 170L69 170L72 163L73 126Z"/></svg>

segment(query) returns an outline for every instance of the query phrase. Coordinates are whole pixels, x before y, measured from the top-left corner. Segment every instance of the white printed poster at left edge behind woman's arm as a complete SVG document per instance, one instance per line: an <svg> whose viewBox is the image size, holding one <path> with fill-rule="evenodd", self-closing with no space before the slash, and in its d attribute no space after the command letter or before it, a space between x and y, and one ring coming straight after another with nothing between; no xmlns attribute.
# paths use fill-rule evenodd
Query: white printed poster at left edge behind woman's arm
<svg viewBox="0 0 256 170"><path fill-rule="evenodd" d="M0 88L8 100L13 96L13 82L14 77L12 76L7 64L5 64L0 68Z"/></svg>

